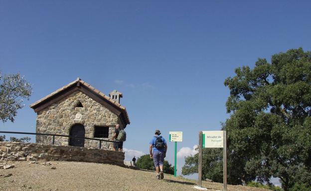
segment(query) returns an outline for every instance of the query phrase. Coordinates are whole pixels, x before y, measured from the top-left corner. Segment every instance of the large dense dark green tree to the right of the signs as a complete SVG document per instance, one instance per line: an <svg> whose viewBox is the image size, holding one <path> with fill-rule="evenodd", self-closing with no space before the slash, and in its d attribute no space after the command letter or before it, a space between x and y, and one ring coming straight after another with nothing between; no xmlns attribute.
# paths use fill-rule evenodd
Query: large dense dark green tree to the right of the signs
<svg viewBox="0 0 311 191"><path fill-rule="evenodd" d="M289 50L235 73L224 82L229 160L241 157L241 175L261 183L280 178L285 191L310 183L300 173L311 174L311 52ZM242 170L233 164L231 170Z"/></svg>

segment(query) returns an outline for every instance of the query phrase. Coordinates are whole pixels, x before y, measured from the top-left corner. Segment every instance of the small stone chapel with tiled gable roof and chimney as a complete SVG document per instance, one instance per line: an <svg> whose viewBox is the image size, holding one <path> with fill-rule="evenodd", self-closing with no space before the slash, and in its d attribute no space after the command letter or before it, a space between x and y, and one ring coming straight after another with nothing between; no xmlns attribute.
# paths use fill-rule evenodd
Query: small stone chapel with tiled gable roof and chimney
<svg viewBox="0 0 311 191"><path fill-rule="evenodd" d="M103 94L79 77L45 96L30 107L37 113L36 133L62 134L110 140L115 127L130 124L121 92ZM36 142L52 144L52 136L36 135ZM55 145L99 148L99 141L55 136ZM112 142L102 141L102 149L111 150Z"/></svg>

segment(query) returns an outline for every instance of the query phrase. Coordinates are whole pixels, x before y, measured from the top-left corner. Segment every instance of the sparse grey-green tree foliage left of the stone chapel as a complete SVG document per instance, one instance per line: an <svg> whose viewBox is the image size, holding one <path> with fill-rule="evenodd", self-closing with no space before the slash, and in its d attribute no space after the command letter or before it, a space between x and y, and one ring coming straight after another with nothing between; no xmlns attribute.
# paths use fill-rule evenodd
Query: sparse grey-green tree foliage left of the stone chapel
<svg viewBox="0 0 311 191"><path fill-rule="evenodd" d="M0 120L14 122L18 109L21 109L22 98L29 99L30 84L19 74L2 76L0 72Z"/></svg>

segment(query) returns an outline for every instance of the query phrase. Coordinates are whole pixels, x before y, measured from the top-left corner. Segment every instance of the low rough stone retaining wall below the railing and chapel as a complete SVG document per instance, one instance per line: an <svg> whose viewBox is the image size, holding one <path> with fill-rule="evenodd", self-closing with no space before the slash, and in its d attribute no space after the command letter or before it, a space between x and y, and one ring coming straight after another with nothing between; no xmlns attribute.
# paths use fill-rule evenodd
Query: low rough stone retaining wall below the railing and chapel
<svg viewBox="0 0 311 191"><path fill-rule="evenodd" d="M0 162L37 160L81 161L123 166L124 152L76 146L0 141Z"/></svg>

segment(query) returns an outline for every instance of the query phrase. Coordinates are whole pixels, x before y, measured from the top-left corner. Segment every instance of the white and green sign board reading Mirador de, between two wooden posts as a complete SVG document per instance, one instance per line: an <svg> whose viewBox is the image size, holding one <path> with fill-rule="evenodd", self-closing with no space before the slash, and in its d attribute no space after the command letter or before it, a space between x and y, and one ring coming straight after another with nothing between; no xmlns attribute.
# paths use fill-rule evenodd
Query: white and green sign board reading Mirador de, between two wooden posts
<svg viewBox="0 0 311 191"><path fill-rule="evenodd" d="M202 147L223 148L223 130L202 131Z"/></svg>

